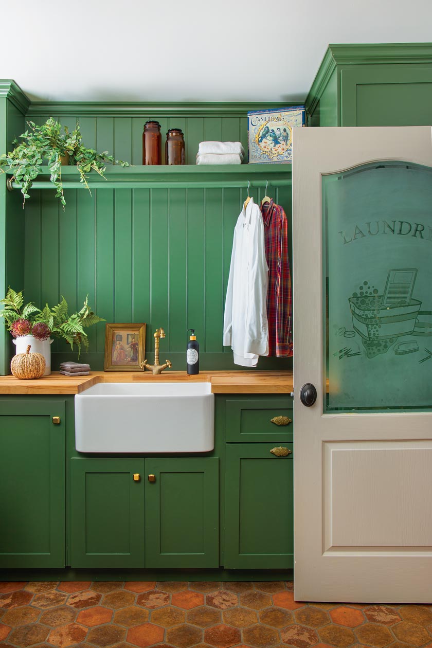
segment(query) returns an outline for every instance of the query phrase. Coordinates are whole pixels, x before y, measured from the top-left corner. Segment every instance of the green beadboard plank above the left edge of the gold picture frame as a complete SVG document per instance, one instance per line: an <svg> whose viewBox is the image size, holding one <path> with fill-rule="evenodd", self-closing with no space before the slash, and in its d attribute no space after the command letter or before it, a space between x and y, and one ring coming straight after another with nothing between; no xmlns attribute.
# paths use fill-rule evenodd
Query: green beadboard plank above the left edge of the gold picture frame
<svg viewBox="0 0 432 648"><path fill-rule="evenodd" d="M113 322L114 319L114 191L96 192L96 300L95 312ZM124 320L122 320L124 321ZM97 351L104 353L102 325L98 328Z"/></svg>

